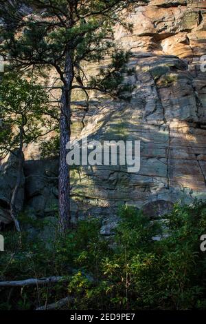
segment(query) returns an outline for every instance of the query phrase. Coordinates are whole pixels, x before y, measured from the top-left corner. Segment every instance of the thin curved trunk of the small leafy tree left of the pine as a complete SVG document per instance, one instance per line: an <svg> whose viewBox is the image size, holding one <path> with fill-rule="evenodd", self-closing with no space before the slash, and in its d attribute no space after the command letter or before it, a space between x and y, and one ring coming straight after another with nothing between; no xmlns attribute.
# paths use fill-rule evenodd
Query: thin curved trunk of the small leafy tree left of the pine
<svg viewBox="0 0 206 324"><path fill-rule="evenodd" d="M12 192L12 199L10 202L10 214L12 217L12 220L14 221L16 230L20 232L20 226L18 221L18 213L16 211L16 199L19 192L19 187L21 185L21 175L22 175L22 168L23 168L23 127L20 128L19 133L19 150L17 152L18 157L18 169L17 169L17 178L16 178L16 185L14 187L14 190Z"/></svg>

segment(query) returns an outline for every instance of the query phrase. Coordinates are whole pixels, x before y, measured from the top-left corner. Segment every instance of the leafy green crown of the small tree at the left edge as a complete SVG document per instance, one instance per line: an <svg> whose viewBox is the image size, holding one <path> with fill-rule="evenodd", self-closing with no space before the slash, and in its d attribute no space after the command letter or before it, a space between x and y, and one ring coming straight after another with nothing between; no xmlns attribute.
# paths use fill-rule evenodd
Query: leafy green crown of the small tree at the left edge
<svg viewBox="0 0 206 324"><path fill-rule="evenodd" d="M0 83L1 152L19 148L21 129L25 144L37 141L44 132L49 132L53 122L45 118L47 102L47 94L34 81L14 73L3 75Z"/></svg>

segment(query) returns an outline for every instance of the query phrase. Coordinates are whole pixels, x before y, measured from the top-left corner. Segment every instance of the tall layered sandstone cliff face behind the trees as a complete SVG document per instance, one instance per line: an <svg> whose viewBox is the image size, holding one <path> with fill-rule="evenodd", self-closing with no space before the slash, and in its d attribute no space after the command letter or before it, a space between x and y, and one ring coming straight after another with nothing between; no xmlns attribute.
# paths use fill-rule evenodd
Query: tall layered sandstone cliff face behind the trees
<svg viewBox="0 0 206 324"><path fill-rule="evenodd" d="M124 14L133 33L117 26L115 39L133 53L125 75L134 86L130 102L91 93L89 112L80 114L73 105L73 137L141 141L138 173L128 173L124 165L71 172L73 218L104 217L104 235L111 231L105 219L116 222L119 203L143 207L152 216L180 199L206 197L206 72L201 71L206 1L152 0ZM84 104L84 96L73 97ZM57 162L39 161L36 147L25 156L25 208L51 216L58 198Z"/></svg>

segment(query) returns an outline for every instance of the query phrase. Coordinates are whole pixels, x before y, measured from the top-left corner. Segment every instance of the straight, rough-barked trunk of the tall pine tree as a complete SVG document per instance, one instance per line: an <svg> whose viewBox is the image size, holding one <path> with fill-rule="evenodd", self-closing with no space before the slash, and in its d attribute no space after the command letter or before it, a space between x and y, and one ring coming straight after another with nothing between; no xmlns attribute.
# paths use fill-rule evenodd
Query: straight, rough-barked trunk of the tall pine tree
<svg viewBox="0 0 206 324"><path fill-rule="evenodd" d="M70 225L70 176L67 164L66 145L71 134L71 85L73 82L73 63L69 52L65 63L65 84L62 88L60 113L60 161L58 176L59 225L60 232L67 231Z"/></svg>

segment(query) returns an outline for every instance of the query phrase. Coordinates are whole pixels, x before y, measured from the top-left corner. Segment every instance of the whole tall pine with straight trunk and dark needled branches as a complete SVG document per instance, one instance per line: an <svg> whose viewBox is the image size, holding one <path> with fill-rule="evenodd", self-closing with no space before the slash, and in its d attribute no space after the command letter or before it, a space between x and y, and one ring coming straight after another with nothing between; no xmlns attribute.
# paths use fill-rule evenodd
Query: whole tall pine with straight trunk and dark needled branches
<svg viewBox="0 0 206 324"><path fill-rule="evenodd" d="M71 134L71 91L121 93L128 53L118 52L113 27L119 12L133 0L11 0L0 5L1 54L15 68L55 68L62 83L60 98L59 216L60 231L69 227L69 165L66 145ZM100 77L84 85L82 63L112 57ZM87 95L88 97L88 95Z"/></svg>

